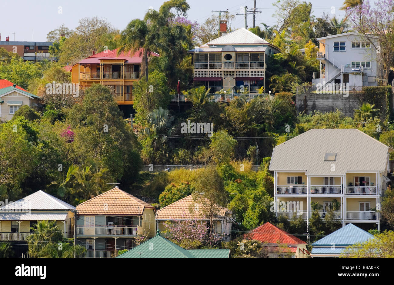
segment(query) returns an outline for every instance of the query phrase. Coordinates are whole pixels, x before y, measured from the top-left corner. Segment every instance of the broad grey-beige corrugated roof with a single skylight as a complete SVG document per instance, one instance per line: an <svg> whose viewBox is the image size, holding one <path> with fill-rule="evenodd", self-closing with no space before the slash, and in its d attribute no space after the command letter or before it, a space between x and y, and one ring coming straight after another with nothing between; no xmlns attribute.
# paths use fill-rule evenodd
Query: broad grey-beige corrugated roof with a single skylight
<svg viewBox="0 0 394 285"><path fill-rule="evenodd" d="M326 152L336 153L336 160L324 161ZM306 175L384 171L387 154L388 146L357 129L312 129L275 146L269 170L299 170ZM332 164L335 171L331 171Z"/></svg>

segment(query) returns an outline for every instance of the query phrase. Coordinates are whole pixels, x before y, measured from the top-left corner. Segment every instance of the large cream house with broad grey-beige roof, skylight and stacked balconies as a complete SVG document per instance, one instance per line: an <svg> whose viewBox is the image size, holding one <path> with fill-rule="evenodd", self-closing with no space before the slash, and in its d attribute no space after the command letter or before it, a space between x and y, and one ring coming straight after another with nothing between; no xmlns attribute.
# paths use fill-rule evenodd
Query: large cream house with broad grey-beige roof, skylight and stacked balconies
<svg viewBox="0 0 394 285"><path fill-rule="evenodd" d="M297 215L308 222L314 202L323 220L331 209L343 226L368 223L379 229L389 151L357 129L312 129L275 146L269 170L277 217Z"/></svg>

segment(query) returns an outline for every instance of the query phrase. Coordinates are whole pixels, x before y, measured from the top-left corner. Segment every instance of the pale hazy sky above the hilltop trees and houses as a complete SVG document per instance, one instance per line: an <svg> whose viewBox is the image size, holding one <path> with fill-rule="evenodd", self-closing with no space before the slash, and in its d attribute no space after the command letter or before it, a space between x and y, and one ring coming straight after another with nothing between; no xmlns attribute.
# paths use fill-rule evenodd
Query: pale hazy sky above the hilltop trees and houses
<svg viewBox="0 0 394 285"><path fill-rule="evenodd" d="M159 9L163 0L1 0L0 3L0 33L2 41L46 41L46 34L57 28L60 24L65 24L70 29L78 26L78 20L84 17L104 17L108 22L123 30L132 19L143 18L146 11L153 7ZM256 13L256 25L261 22L268 26L274 25L277 21L272 17L275 12L272 0L257 0L256 8L262 13ZM336 16L343 17L344 11L339 8L343 0L310 0L313 14L320 17L323 11L331 13L331 7L335 7ZM253 8L253 0L189 0L191 9L188 11L188 18L198 23L203 23L208 18L211 11L226 10L232 14L240 13L241 6ZM61 8L60 8L61 7ZM62 13L59 13L61 9ZM217 14L217 13L216 13ZM253 15L247 15L247 24L252 27ZM233 22L234 28L244 26L244 16L237 15Z"/></svg>

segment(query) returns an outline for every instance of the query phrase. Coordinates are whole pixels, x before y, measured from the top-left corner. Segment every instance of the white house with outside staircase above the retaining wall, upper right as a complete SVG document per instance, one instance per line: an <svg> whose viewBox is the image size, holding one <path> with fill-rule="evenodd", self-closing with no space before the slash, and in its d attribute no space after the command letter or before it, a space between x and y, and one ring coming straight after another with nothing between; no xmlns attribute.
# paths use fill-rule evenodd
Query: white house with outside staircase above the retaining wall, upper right
<svg viewBox="0 0 394 285"><path fill-rule="evenodd" d="M370 36L370 39L376 38ZM359 91L362 86L377 85L377 71L380 68L377 54L364 35L349 32L317 40L320 72L313 73L313 84L349 83L350 91ZM377 40L375 46L378 46Z"/></svg>

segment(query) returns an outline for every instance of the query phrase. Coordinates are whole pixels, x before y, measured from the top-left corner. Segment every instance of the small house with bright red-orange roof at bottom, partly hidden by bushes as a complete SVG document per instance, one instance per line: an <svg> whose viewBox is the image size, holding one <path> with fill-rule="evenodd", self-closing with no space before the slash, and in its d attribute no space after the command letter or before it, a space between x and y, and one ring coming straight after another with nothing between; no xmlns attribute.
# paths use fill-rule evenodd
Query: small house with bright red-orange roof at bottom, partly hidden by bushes
<svg viewBox="0 0 394 285"><path fill-rule="evenodd" d="M269 257L278 257L279 252L289 252L293 258L307 258L309 252L307 243L280 229L273 224L266 222L255 229L252 229L245 235L247 239L255 239L264 243L272 250L269 251Z"/></svg>

